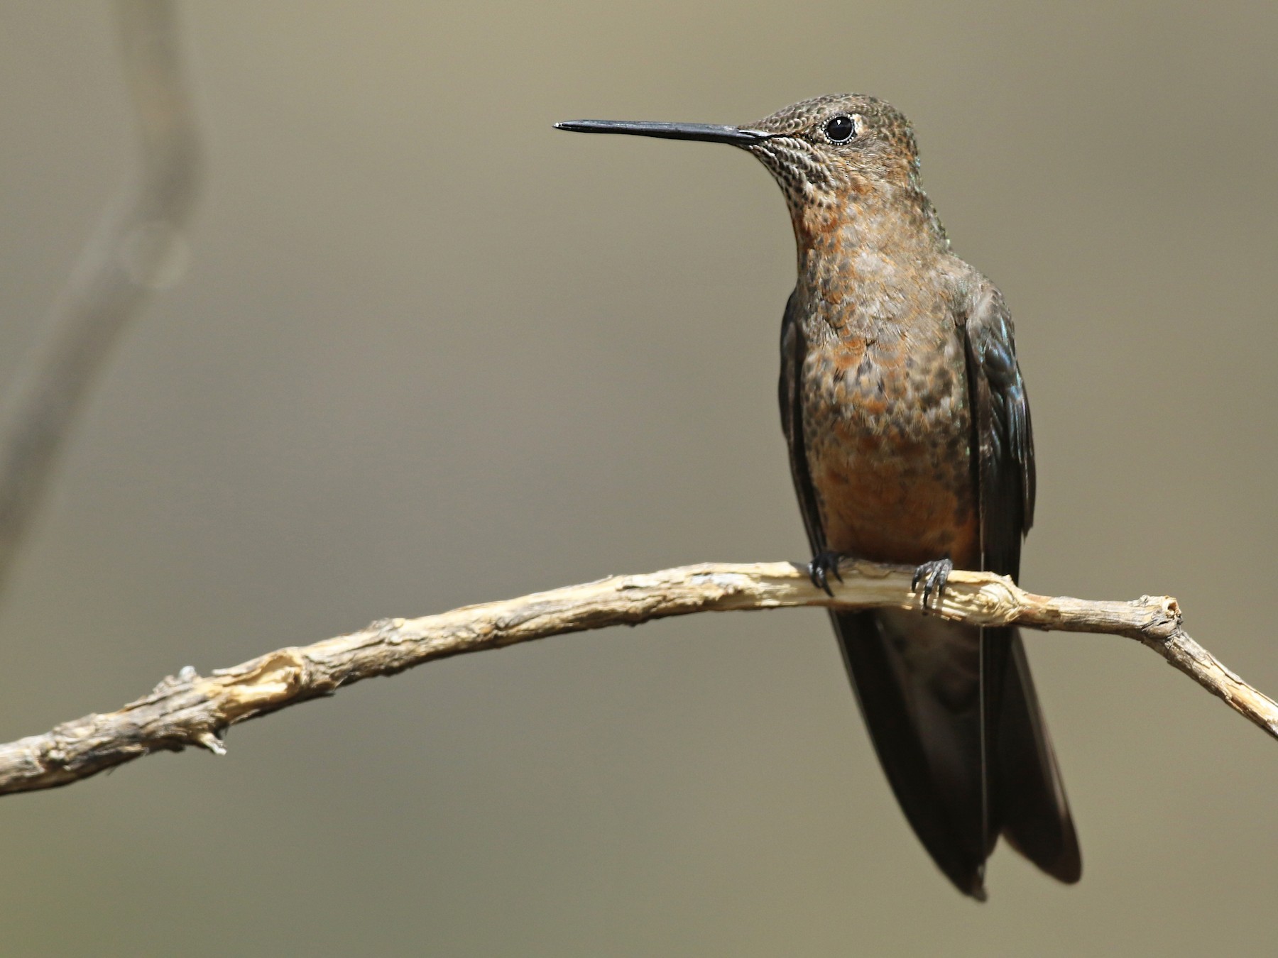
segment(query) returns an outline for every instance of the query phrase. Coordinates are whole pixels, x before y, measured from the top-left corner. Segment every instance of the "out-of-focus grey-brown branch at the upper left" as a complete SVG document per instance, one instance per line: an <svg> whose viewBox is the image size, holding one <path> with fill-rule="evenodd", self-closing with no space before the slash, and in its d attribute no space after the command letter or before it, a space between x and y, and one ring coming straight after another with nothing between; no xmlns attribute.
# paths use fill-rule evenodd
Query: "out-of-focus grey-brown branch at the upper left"
<svg viewBox="0 0 1278 958"><path fill-rule="evenodd" d="M0 585L68 428L129 319L185 252L199 149L173 0L116 0L138 167L107 206L0 414Z"/></svg>

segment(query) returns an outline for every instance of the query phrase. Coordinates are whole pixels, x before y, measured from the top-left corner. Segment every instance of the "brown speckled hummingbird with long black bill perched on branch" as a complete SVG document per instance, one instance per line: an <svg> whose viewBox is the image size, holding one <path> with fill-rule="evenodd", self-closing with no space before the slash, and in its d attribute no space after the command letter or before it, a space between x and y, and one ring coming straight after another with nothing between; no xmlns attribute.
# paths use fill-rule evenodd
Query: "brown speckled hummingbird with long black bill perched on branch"
<svg viewBox="0 0 1278 958"><path fill-rule="evenodd" d="M556 126L728 143L776 179L797 249L778 392L809 574L831 591L840 559L916 568L918 609L831 611L879 763L964 894L985 899L999 837L1077 881L1079 840L1017 630L929 614L955 565L1017 579L1034 438L1011 314L951 252L910 123L843 93L744 126Z"/></svg>

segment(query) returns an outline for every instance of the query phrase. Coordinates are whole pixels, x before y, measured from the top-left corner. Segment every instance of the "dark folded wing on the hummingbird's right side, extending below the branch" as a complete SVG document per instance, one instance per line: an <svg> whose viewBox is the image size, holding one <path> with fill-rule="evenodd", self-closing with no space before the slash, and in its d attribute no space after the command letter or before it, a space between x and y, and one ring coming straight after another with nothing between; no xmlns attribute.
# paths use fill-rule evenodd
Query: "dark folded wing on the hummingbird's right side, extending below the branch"
<svg viewBox="0 0 1278 958"><path fill-rule="evenodd" d="M1002 294L978 287L964 335L978 450L984 568L1020 576L1021 539L1034 521L1034 436L1025 382L1016 361L1012 319ZM1015 628L982 636L982 700L990 830L1062 881L1082 863L1052 742L1039 713L1029 663Z"/></svg>

